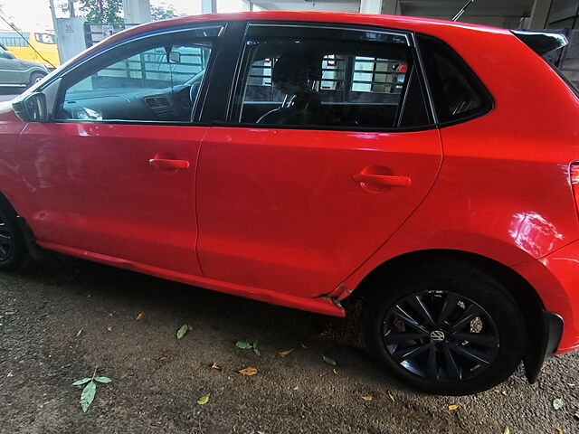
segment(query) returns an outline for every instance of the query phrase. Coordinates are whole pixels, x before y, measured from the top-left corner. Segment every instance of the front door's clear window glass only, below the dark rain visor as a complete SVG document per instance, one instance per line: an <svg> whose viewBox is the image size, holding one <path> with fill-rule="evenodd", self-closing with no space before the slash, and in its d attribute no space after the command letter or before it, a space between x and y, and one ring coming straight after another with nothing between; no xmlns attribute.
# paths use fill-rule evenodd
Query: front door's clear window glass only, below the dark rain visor
<svg viewBox="0 0 579 434"><path fill-rule="evenodd" d="M111 63L63 96L58 117L190 122L210 46L166 46Z"/></svg>

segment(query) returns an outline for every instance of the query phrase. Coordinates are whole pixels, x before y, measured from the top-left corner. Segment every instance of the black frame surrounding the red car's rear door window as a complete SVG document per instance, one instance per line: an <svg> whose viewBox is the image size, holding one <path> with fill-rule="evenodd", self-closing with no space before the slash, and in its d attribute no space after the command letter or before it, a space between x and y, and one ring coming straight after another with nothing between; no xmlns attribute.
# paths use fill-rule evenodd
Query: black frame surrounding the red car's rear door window
<svg viewBox="0 0 579 434"><path fill-rule="evenodd" d="M380 34L384 35L385 37L397 37L397 38L405 38L406 45L411 52L412 60L413 60L413 71L416 71L418 74L419 84L421 86L422 91L422 99L424 104L424 109L426 110L426 114L428 117L428 123L421 126L416 127L352 127L352 126L294 126L294 125L261 125L256 123L240 123L232 120L232 116L234 113L234 106L235 106L235 96L237 95L237 91L239 86L242 86L242 81L240 78L242 77L243 73L243 58L244 58L244 48L245 48L245 41L248 37L248 33L252 26L261 26L261 27L270 27L270 28L283 28L283 27L299 27L299 28L308 28L312 31L320 32L320 31L331 31L335 34L339 32L342 33L342 38L352 41L351 35L357 35L360 41L376 41L373 38L365 38L364 34ZM363 132L411 132L411 131L422 131L433 129L437 127L435 113L432 111L432 101L430 96L430 90L427 88L427 81L424 79L424 71L422 68L422 60L418 55L418 51L416 50L416 44L414 39L414 33L409 31L403 31L399 29L389 29L384 27L376 27L370 25L348 25L348 24L331 24L331 23L318 23L318 22L298 22L298 21L247 21L244 22L243 29L237 34L236 44L237 47L237 55L234 61L234 73L230 75L232 77L229 89L227 90L227 99L226 99L226 108L223 113L223 120L213 120L209 118L205 118L205 120L212 123L212 125L219 126L219 127L243 127L243 128L263 128L263 129L301 129L301 130L329 130L329 131L363 131ZM230 34L230 37L233 37ZM384 41L385 42L385 41ZM224 43L226 45L227 42ZM223 71L228 68L223 68L223 65L218 61L219 67L217 71ZM226 63L229 65L229 69L232 68L232 61L230 60ZM230 70L231 71L231 70ZM410 76L410 73L407 74ZM407 85L408 80L404 80L404 96L408 93L405 90L405 86ZM223 97L222 97L223 98ZM399 109L402 108L403 101L400 103ZM402 118L402 116L401 116Z"/></svg>

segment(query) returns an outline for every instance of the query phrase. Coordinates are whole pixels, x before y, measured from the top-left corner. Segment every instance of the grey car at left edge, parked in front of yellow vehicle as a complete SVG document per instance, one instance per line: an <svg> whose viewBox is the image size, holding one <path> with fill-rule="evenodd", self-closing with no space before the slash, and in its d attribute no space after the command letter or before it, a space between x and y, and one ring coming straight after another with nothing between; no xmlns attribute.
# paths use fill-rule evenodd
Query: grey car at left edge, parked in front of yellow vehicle
<svg viewBox="0 0 579 434"><path fill-rule="evenodd" d="M0 87L27 87L43 80L48 70L42 63L21 61L0 45Z"/></svg>

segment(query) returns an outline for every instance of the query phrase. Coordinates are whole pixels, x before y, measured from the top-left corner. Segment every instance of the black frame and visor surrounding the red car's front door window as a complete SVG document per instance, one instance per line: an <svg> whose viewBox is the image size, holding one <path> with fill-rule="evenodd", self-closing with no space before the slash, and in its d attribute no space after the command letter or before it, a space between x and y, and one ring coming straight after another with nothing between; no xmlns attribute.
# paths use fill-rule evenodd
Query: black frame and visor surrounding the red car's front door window
<svg viewBox="0 0 579 434"><path fill-rule="evenodd" d="M114 45L111 45L103 50L94 52L90 57L82 59L79 62L72 63L69 68L60 71L60 73L54 74L52 80L47 81L43 88L39 89L43 91L49 87L52 83L60 80L58 84L58 91L56 93L56 99L54 101L53 110L48 123L56 124L98 124L98 125L156 125L156 126L177 126L177 127L200 127L207 126L206 123L201 121L201 113L204 109L204 100L206 99L207 91L209 89L210 82L212 80L212 71L214 71L215 64L219 55L220 50L223 47L223 34L227 31L228 23L226 22L210 22L210 23L199 23L199 24L187 24L179 25L176 27L170 27L166 29L161 29L153 32L141 33L130 37L128 39L119 41ZM204 80L202 82L202 87L199 90L197 100L195 102L195 107L192 110L193 116L190 122L186 121L168 121L168 120L138 120L138 119L103 119L103 120L92 120L92 119L62 119L56 118L58 113L58 108L62 106L66 90L70 89L71 83L75 84L80 80L84 80L86 77L90 76L90 73L95 71L100 71L99 59L100 56L105 55L109 52L122 50L124 46L128 44L134 44L135 42L149 41L152 39L157 39L159 37L169 36L169 35L180 35L186 33L203 33L208 29L217 30L217 35L215 36L205 36L199 34L199 37L214 38L215 42L212 45L212 52L209 64L207 65ZM58 70L57 70L58 71ZM90 73L87 75L87 71ZM81 79L79 79L81 76Z"/></svg>

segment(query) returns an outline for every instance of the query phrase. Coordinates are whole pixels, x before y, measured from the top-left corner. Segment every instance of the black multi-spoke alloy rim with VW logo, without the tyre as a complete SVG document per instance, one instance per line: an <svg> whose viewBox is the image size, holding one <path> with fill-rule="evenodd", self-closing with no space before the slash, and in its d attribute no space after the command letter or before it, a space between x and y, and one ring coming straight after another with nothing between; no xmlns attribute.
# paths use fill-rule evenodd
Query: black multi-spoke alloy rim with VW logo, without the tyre
<svg viewBox="0 0 579 434"><path fill-rule="evenodd" d="M469 297L426 291L403 297L383 321L386 351L404 369L435 382L475 378L495 362L499 336Z"/></svg>

